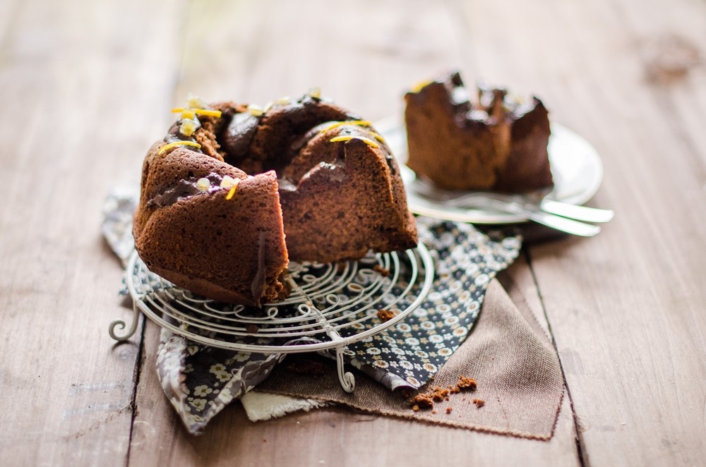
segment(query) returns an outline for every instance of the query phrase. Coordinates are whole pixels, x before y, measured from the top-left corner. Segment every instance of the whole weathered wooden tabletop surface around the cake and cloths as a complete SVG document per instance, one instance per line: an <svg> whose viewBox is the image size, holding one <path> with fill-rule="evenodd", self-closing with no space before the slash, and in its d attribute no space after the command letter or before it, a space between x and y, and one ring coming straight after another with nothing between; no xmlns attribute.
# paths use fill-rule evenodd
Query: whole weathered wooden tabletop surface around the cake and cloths
<svg viewBox="0 0 706 467"><path fill-rule="evenodd" d="M331 408L191 437L128 344L104 196L137 183L189 92L264 104L320 86L367 119L459 68L534 92L590 140L616 210L599 236L527 245L510 270L566 375L549 442ZM704 465L706 3L0 2L0 464Z"/></svg>

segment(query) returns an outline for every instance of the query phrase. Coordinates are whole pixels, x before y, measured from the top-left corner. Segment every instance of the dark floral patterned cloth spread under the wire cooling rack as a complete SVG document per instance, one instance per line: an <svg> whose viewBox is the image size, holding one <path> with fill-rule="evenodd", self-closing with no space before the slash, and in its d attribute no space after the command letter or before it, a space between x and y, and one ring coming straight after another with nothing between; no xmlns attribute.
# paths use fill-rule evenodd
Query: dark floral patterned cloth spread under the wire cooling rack
<svg viewBox="0 0 706 467"><path fill-rule="evenodd" d="M114 200L108 205L129 209L125 200ZM109 243L124 245L125 241L116 240L116 231L131 229L119 226L116 219L124 221L126 217L109 212L105 219L103 231ZM465 340L489 281L508 267L520 250L516 233L486 234L468 224L424 217L417 218L417 227L420 241L433 257L431 292L405 320L349 344L343 352L355 368L389 389L416 389L435 375ZM309 271L312 272L315 271ZM395 301L395 295L406 285L402 277L390 291L390 302L400 309L416 296L411 293L412 298ZM360 332L373 325L361 324L360 329L347 332ZM157 373L184 425L196 434L230 401L262 382L283 358L282 354L242 353L195 344L163 330Z"/></svg>

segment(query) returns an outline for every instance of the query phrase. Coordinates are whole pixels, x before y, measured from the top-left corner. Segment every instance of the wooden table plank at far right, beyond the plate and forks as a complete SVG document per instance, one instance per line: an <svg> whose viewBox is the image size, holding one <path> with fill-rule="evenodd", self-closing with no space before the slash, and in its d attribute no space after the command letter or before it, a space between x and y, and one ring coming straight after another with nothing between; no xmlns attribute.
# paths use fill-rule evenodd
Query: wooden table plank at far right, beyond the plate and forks
<svg viewBox="0 0 706 467"><path fill-rule="evenodd" d="M516 8L515 8L516 7ZM582 427L585 463L702 463L706 455L704 72L650 79L646 44L683 37L703 56L702 2L478 2L479 68L527 77L552 115L603 156L597 238L530 249ZM505 60L505 28L529 63ZM507 44L505 44L507 45ZM664 45L664 44L662 44ZM659 47L659 46L658 46ZM498 58L501 56L501 58Z"/></svg>

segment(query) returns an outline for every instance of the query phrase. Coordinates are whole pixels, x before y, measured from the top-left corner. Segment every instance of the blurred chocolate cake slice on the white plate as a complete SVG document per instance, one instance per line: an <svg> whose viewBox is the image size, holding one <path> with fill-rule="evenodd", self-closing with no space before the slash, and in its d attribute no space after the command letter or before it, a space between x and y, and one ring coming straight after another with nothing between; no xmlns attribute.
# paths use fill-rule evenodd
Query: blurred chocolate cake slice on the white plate
<svg viewBox="0 0 706 467"><path fill-rule="evenodd" d="M549 117L537 97L522 103L479 87L472 104L459 73L405 95L407 166L448 190L525 192L552 186Z"/></svg>

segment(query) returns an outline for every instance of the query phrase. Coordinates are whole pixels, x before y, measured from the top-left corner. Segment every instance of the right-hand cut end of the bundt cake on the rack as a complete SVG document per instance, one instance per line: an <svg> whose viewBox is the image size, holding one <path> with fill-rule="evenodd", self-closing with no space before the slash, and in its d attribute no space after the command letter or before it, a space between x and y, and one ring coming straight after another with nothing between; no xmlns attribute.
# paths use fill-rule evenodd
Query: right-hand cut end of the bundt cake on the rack
<svg viewBox="0 0 706 467"><path fill-rule="evenodd" d="M355 122L317 127L280 171L292 260L332 262L417 245L395 158L377 133Z"/></svg>

